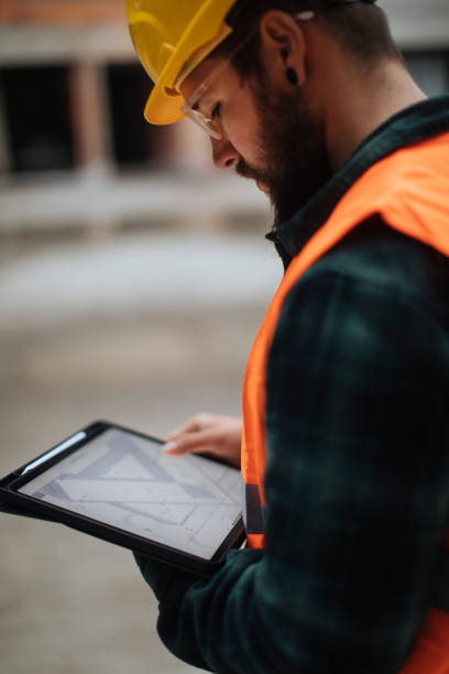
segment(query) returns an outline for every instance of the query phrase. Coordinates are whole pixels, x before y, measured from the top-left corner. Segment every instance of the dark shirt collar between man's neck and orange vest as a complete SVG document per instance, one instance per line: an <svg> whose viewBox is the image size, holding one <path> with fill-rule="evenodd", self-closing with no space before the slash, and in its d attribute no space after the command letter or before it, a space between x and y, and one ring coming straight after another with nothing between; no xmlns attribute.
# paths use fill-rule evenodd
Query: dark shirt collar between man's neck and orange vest
<svg viewBox="0 0 449 674"><path fill-rule="evenodd" d="M298 254L329 218L353 183L375 162L405 145L449 131L449 96L402 110L371 133L341 168L289 220L266 235L273 241L284 267Z"/></svg>

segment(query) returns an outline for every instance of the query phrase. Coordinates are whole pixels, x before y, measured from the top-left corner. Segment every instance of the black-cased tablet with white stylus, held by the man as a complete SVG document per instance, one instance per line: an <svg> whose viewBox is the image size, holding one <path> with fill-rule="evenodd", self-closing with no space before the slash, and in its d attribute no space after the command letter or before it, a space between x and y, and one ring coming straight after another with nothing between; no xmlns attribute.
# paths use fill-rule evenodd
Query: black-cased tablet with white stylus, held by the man
<svg viewBox="0 0 449 674"><path fill-rule="evenodd" d="M109 422L75 433L0 482L1 510L62 522L202 575L241 545L240 470L171 457Z"/></svg>

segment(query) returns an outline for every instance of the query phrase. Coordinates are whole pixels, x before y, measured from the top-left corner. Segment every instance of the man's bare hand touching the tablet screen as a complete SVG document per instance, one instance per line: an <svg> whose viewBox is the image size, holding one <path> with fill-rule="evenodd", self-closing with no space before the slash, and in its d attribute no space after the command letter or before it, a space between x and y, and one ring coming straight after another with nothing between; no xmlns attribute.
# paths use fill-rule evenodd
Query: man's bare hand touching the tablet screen
<svg viewBox="0 0 449 674"><path fill-rule="evenodd" d="M171 456L202 453L240 468L242 421L221 414L196 414L166 437Z"/></svg>

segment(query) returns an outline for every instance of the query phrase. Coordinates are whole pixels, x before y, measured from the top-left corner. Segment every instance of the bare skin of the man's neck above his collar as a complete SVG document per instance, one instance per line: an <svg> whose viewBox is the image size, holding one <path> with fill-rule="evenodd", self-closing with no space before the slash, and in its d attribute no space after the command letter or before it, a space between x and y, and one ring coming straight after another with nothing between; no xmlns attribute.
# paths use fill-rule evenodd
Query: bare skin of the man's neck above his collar
<svg viewBox="0 0 449 674"><path fill-rule="evenodd" d="M343 64L340 77L328 78L325 107L326 140L332 171L387 119L426 99L398 61L388 59L372 72ZM329 96L330 94L330 96Z"/></svg>

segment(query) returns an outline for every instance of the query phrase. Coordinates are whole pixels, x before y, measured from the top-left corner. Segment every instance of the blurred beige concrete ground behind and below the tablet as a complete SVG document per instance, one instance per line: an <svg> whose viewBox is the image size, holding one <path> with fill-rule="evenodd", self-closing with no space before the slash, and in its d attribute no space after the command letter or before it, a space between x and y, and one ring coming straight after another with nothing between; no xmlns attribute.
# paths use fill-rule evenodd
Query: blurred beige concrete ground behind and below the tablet
<svg viewBox="0 0 449 674"><path fill-rule="evenodd" d="M142 249L142 238L134 243ZM234 276L227 292L217 291L217 296L228 295L228 302L213 307L209 287L204 293L209 300L201 303L197 297L187 311L186 284L199 297L200 286L191 276L188 281L182 268L172 268L176 278L171 284L164 283L164 265L161 276L154 276L152 251L162 256L156 243L146 241L153 276L145 276L142 262L140 273L134 267L135 284L127 286L131 308L119 292L116 303L106 302L107 311L103 302L117 285L110 270L117 269L123 240L22 247L0 260L0 475L95 418L164 436L201 410L239 413L244 361L280 263L267 257L263 243L258 249L254 242L259 252L251 253L249 239L243 248L239 241L234 247L230 241L209 246L211 278L221 275L226 285ZM90 260L95 250L98 264ZM127 250L132 264L138 256ZM204 264L206 252L199 250L198 264ZM242 250L248 256L241 254L236 267ZM78 283L77 292L67 279L79 278L79 263L70 260L79 260L83 252L83 287ZM64 281L58 284L54 276L53 292L48 269L64 262ZM244 264L253 292L242 300L234 281L240 274L244 282ZM147 287L142 290L150 281L158 301L169 286L165 311L161 303L152 304ZM0 537L1 672L194 671L160 643L156 601L129 551L58 524L6 514L0 515Z"/></svg>

